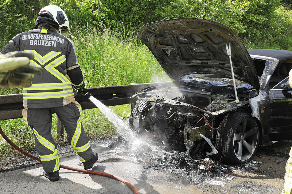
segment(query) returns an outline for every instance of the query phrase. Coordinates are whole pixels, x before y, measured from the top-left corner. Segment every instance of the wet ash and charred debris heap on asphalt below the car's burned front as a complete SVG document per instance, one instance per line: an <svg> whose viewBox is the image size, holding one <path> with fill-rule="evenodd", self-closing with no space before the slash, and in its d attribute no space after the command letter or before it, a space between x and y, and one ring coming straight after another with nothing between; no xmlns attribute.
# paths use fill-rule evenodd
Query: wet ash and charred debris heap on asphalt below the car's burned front
<svg viewBox="0 0 292 194"><path fill-rule="evenodd" d="M204 153L197 153L190 158L186 157L185 151L170 151L169 145L160 144L149 146L139 144L137 147L129 147L127 142L120 144L119 150L113 157L121 157L124 160L140 163L145 169L170 173L183 176L190 184L199 184L211 177L225 176L229 172L239 170L234 166L224 165ZM168 150L168 151L165 151Z"/></svg>

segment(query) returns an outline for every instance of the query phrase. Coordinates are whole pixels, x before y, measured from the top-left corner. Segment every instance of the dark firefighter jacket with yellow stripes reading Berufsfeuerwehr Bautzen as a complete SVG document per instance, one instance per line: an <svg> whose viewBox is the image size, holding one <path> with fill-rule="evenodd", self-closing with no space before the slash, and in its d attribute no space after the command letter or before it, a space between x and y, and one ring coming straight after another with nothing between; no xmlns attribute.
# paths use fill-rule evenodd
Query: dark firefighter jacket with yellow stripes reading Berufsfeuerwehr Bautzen
<svg viewBox="0 0 292 194"><path fill-rule="evenodd" d="M49 108L65 106L74 99L73 86L83 88L80 64L77 63L73 42L58 32L38 28L16 35L2 54L11 51L31 51L35 58L31 64L43 68L41 75L35 75L32 86L23 88L23 106Z"/></svg>

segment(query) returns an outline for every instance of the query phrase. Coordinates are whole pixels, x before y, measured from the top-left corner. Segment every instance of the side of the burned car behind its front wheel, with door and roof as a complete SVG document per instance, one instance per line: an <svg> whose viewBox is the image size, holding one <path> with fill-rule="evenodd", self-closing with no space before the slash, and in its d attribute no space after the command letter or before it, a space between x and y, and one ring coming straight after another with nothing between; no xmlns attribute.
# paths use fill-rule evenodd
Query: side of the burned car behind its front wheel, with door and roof
<svg viewBox="0 0 292 194"><path fill-rule="evenodd" d="M260 82L259 95L250 99L252 116L262 126L262 143L273 140L292 139L292 92L281 88L288 82L292 68L292 51L249 49L251 58L265 60L265 69Z"/></svg>

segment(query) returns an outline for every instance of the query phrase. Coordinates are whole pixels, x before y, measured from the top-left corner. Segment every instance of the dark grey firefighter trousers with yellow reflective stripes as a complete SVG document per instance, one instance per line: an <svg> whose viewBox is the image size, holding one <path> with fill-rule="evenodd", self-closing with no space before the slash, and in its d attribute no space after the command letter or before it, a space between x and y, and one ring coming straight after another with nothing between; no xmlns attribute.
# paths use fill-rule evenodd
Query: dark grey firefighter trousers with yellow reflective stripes
<svg viewBox="0 0 292 194"><path fill-rule="evenodd" d="M35 148L46 173L60 170L58 150L51 133L52 112L56 113L64 125L67 140L80 161L86 162L94 156L81 123L82 108L77 101L61 107L24 109L23 119L33 130Z"/></svg>

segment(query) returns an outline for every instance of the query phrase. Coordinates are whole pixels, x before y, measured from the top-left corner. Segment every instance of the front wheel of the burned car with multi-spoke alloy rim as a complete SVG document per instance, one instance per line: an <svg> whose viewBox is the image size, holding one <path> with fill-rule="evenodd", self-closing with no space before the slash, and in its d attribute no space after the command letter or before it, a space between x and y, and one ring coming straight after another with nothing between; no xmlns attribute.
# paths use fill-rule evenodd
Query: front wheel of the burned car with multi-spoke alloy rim
<svg viewBox="0 0 292 194"><path fill-rule="evenodd" d="M220 129L221 158L228 163L251 160L259 146L259 127L250 114L234 112Z"/></svg>

